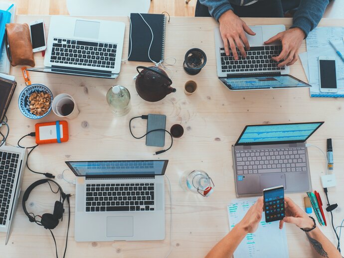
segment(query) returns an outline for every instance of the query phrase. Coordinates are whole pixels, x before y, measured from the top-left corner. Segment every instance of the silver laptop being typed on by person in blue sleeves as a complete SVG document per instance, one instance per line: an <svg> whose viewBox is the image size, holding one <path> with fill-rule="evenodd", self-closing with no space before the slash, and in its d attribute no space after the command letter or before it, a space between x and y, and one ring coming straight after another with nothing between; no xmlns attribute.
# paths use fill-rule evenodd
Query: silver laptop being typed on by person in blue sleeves
<svg viewBox="0 0 344 258"><path fill-rule="evenodd" d="M289 75L289 66L277 67L278 63L271 58L282 51L279 41L264 45L264 41L277 33L286 30L284 25L250 26L256 33L246 33L250 50L243 58L237 48L239 60L234 60L232 52L226 56L223 40L218 27L215 28L215 52L217 75L220 81L230 90L278 89L311 87L311 85Z"/></svg>

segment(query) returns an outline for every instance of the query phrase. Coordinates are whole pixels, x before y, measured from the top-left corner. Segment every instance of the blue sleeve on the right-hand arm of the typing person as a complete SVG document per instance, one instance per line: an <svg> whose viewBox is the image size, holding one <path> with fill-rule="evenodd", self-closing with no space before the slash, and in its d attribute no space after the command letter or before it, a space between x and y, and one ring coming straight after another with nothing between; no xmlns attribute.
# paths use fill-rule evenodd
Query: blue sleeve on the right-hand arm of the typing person
<svg viewBox="0 0 344 258"><path fill-rule="evenodd" d="M328 4L329 0L301 0L294 14L292 28L301 28L307 37L308 33L318 25Z"/></svg>

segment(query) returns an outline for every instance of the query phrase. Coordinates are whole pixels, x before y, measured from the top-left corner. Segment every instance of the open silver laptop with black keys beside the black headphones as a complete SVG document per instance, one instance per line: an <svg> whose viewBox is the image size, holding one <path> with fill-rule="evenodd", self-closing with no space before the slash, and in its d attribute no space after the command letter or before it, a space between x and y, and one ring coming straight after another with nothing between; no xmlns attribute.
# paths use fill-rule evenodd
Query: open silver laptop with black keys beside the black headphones
<svg viewBox="0 0 344 258"><path fill-rule="evenodd" d="M79 177L75 241L165 239L168 160L66 161Z"/></svg>

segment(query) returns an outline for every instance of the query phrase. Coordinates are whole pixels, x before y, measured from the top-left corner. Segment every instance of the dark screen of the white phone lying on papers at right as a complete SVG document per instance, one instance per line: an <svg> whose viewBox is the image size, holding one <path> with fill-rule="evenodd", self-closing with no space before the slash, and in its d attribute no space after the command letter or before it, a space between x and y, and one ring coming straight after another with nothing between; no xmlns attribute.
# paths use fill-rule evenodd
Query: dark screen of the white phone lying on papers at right
<svg viewBox="0 0 344 258"><path fill-rule="evenodd" d="M336 89L336 61L335 60L319 60L320 83L325 89Z"/></svg>

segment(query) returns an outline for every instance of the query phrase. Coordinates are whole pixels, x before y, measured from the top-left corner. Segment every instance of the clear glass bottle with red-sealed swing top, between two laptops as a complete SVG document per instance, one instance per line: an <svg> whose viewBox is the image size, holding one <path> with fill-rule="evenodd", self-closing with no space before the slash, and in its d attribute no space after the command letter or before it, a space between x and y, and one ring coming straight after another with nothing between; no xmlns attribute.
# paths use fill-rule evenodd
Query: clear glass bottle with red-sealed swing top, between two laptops
<svg viewBox="0 0 344 258"><path fill-rule="evenodd" d="M202 170L185 172L180 178L180 184L185 190L198 193L204 197L208 197L214 191L214 183L208 174Z"/></svg>

